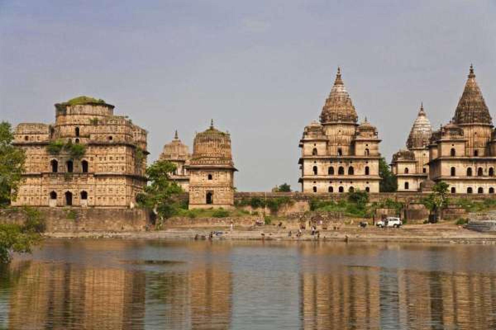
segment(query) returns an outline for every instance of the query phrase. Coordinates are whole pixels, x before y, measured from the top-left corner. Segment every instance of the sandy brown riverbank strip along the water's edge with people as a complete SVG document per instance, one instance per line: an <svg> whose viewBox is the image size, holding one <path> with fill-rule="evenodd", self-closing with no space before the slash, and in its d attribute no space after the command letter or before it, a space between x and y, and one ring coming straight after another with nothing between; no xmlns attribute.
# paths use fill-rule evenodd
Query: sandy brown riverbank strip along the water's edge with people
<svg viewBox="0 0 496 330"><path fill-rule="evenodd" d="M496 244L496 234L480 233L454 224L412 224L402 228L384 229L347 226L337 230L320 230L318 236L311 235L309 230L304 230L300 237L295 235L297 230L295 228L278 230L274 226L260 226L235 228L231 232L226 227L174 227L136 232L52 232L46 233L45 236L51 238L208 240L210 232L216 232L212 240Z"/></svg>

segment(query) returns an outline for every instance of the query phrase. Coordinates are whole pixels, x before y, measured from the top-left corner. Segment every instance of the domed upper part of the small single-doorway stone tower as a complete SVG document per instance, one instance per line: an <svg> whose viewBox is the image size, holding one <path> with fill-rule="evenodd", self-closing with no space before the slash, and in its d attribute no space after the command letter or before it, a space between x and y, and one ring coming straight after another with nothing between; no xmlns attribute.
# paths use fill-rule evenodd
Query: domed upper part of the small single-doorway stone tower
<svg viewBox="0 0 496 330"><path fill-rule="evenodd" d="M229 133L210 127L194 137L190 165L225 165L233 167Z"/></svg>

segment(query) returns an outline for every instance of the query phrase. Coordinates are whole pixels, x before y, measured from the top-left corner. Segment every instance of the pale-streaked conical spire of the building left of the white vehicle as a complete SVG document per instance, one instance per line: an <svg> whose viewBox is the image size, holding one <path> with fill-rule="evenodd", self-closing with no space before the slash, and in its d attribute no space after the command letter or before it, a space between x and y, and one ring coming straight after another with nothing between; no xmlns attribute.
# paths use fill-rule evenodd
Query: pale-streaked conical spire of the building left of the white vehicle
<svg viewBox="0 0 496 330"><path fill-rule="evenodd" d="M357 111L353 106L350 95L341 78L341 68L338 67L336 79L331 92L325 100L320 114L322 124L335 122L348 122L356 124L358 120Z"/></svg>

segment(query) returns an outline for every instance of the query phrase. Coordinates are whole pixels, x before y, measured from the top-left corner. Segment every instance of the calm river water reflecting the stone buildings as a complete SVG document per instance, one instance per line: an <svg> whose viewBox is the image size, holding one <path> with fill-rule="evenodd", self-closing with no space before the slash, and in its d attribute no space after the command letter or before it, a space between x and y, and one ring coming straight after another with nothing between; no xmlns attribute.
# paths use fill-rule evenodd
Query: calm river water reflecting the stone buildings
<svg viewBox="0 0 496 330"><path fill-rule="evenodd" d="M0 329L496 329L496 246L47 240Z"/></svg>

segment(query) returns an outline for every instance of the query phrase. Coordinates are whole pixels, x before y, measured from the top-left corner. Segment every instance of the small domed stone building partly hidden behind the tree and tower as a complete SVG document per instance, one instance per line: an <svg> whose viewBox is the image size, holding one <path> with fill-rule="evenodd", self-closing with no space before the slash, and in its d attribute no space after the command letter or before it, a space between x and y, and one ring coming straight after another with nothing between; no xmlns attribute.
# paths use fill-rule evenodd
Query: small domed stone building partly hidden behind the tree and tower
<svg viewBox="0 0 496 330"><path fill-rule="evenodd" d="M164 145L162 154L159 157L159 160L169 161L177 166L174 173L170 174L170 179L179 184L184 191L189 189L189 172L186 169L186 162L188 162L190 156L188 147L181 142L178 137L178 131L176 131L174 140Z"/></svg>

